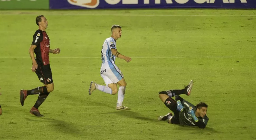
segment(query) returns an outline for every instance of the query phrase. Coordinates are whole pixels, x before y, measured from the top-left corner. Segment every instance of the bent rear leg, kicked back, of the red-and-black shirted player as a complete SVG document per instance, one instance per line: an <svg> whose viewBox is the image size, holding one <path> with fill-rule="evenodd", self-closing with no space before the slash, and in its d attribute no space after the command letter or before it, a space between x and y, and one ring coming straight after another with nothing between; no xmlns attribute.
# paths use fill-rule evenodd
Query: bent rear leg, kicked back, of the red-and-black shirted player
<svg viewBox="0 0 256 140"><path fill-rule="evenodd" d="M42 82L42 83L46 83L46 79L42 73L42 66L38 66L38 68L36 69L35 73L38 76L38 79ZM31 90L20 90L20 103L23 106L24 105L24 101L27 98L28 95L36 95L36 94L47 94L47 87L46 86L39 86L35 89L31 89Z"/></svg>

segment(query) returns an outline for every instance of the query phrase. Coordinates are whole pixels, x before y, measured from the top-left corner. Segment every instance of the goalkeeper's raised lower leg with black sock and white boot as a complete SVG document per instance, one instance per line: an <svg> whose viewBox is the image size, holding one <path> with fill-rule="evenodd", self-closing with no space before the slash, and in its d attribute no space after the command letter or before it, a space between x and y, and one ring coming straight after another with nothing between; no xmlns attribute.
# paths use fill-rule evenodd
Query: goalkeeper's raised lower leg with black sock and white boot
<svg viewBox="0 0 256 140"><path fill-rule="evenodd" d="M184 88L184 89L175 89L175 90L166 90L166 91L161 91L159 94L166 94L169 97L174 97L175 95L180 95L180 94L186 94L190 95L191 89L193 87L193 80L189 82L189 84Z"/></svg>

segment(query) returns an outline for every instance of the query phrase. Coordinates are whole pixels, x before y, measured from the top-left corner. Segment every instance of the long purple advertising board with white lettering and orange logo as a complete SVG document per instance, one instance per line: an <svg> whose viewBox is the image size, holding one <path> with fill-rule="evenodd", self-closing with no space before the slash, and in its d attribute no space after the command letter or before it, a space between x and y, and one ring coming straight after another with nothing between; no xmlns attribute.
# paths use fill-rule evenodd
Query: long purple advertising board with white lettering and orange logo
<svg viewBox="0 0 256 140"><path fill-rule="evenodd" d="M256 8L256 0L50 0L50 9Z"/></svg>

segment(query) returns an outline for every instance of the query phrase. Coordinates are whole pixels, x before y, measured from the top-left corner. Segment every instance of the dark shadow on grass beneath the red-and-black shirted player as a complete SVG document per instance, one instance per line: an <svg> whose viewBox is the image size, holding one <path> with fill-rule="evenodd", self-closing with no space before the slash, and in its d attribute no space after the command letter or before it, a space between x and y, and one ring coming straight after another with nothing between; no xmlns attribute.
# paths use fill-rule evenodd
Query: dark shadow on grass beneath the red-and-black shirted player
<svg viewBox="0 0 256 140"><path fill-rule="evenodd" d="M44 117L36 117L35 119L25 118L28 121L34 121L34 122L42 122L46 121L50 123L50 126L55 128L54 130L57 130L59 132L65 133L65 134L72 134L72 135L84 135L84 132L79 132L79 130L76 129L76 126L73 124L68 124L62 120L56 120L52 118L44 118Z"/></svg>

